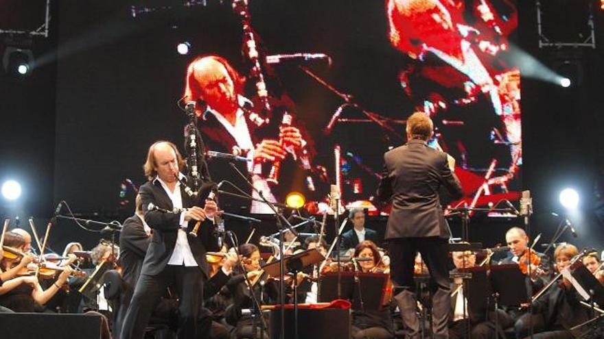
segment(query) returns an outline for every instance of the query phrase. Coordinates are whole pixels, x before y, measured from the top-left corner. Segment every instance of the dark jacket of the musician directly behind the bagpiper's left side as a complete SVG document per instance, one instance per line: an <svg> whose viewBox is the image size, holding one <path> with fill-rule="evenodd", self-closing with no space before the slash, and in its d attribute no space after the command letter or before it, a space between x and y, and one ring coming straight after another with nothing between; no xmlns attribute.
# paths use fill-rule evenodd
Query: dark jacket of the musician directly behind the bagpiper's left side
<svg viewBox="0 0 604 339"><path fill-rule="evenodd" d="M139 216L130 216L124 221L119 234L119 266L121 279L131 288L135 288L139 280L150 241Z"/></svg>

